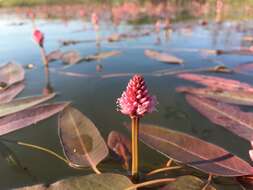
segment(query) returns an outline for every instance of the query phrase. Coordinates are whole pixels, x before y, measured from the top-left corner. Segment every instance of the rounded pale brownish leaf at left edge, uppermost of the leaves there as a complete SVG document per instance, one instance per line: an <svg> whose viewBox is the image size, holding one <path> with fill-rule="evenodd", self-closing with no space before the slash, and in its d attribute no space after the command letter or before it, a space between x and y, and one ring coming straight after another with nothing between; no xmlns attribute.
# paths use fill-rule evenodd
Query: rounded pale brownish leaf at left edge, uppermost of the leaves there
<svg viewBox="0 0 253 190"><path fill-rule="evenodd" d="M16 63L8 63L0 67L0 82L8 87L14 83L23 81L25 78L25 70Z"/></svg>

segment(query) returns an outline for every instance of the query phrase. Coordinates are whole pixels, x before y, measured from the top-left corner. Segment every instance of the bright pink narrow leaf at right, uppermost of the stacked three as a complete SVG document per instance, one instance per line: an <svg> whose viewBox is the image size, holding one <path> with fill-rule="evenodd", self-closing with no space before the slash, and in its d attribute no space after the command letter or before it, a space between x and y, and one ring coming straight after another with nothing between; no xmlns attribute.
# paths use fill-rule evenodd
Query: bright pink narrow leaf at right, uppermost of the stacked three
<svg viewBox="0 0 253 190"><path fill-rule="evenodd" d="M221 77L191 74L191 73L183 73L177 76L179 78L190 80L198 84L208 86L210 88L222 89L222 90L244 90L244 91L253 92L253 86L247 83L243 83L243 82L232 80L232 79L225 79Z"/></svg>

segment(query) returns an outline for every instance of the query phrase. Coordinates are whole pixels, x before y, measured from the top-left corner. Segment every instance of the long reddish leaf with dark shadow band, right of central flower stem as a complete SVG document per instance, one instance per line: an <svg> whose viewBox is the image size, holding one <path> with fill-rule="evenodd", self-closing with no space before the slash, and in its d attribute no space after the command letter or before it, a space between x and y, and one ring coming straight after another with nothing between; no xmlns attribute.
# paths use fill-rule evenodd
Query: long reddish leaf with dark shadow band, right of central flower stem
<svg viewBox="0 0 253 190"><path fill-rule="evenodd" d="M246 161L223 148L167 128L143 124L140 139L163 155L208 174L243 176L253 172Z"/></svg>

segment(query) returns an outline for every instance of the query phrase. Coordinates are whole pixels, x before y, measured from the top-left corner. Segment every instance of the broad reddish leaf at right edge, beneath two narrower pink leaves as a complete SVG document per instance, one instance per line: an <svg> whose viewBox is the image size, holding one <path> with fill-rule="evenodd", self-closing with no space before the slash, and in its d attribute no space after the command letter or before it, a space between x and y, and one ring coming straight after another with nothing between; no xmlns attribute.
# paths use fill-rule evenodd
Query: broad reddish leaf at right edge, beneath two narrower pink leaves
<svg viewBox="0 0 253 190"><path fill-rule="evenodd" d="M186 95L186 99L211 122L223 126L246 140L253 139L253 113L244 112L237 106L197 96Z"/></svg>

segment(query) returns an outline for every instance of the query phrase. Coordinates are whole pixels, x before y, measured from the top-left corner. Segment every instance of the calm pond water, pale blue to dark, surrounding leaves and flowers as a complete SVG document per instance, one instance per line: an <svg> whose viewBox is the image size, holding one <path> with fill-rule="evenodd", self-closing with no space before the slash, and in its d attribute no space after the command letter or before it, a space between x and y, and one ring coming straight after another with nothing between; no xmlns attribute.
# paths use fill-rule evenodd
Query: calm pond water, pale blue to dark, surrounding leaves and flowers
<svg viewBox="0 0 253 190"><path fill-rule="evenodd" d="M18 22L24 22L24 24L20 26L13 25L13 23ZM115 102L121 95L130 76L112 78L102 78L101 76L115 73L142 73L145 75L151 94L157 96L159 106L157 112L145 116L141 122L158 124L183 131L220 145L243 159L249 160L248 142L222 127L211 124L187 104L183 94L175 92L177 86L193 86L194 83L178 79L175 75L156 77L152 76L152 73L163 69L206 68L217 64L234 67L241 63L250 62L253 60L252 56L203 55L197 50L238 49L242 45L242 36L250 32L252 34L252 30L248 28L251 24L250 20L244 22L226 20L222 23L210 20L208 25L202 26L198 20L194 20L175 23L169 37L166 37L165 32L161 30L160 33L154 32L149 36L137 39L127 39L115 43L101 41L100 47L96 46L95 42L61 47L62 51L76 50L83 56L111 50L120 50L122 53L119 56L102 61L82 62L64 70L91 74L94 77L74 77L50 72L50 86L59 94L52 102L71 101L75 107L96 124L105 139L111 130L129 135L123 126L123 122L129 121L129 119L116 111ZM45 34L47 52L58 49L59 40L62 39L96 39L96 33L92 25L80 19L69 20L67 24L60 19L38 19L36 25ZM84 26L85 30L82 30ZM115 27L110 22L102 22L99 35L102 39L115 33L138 33L153 27L153 23L136 26L123 22ZM0 63L15 60L22 65L30 63L35 65L35 69L26 70L26 88L19 97L41 94L48 85L39 49L31 36L32 24L29 19L7 15L0 17ZM160 38L160 43L158 43L158 38ZM183 59L185 64L179 66L157 62L144 55L145 49L171 53ZM101 72L96 71L96 65L98 64L103 66ZM58 70L63 66L62 62L56 61L50 65L50 69ZM239 74L216 75L253 84L252 76ZM247 110L253 111L249 108ZM57 134L57 117L52 117L23 130L5 135L4 138L44 146L62 154ZM28 168L30 175L14 166L10 166L0 155L0 189L35 183L35 179L40 182L52 182L67 176L89 173L89 171L71 169L63 162L43 152L14 144L7 145L20 160L22 166ZM166 160L167 158L162 157L145 145L141 145L140 163L142 171L157 168L163 165ZM110 160L102 165L99 166L102 171L124 172L120 169L120 166L112 165ZM224 186L222 189L232 189L232 187ZM234 187L234 189L239 188Z"/></svg>

